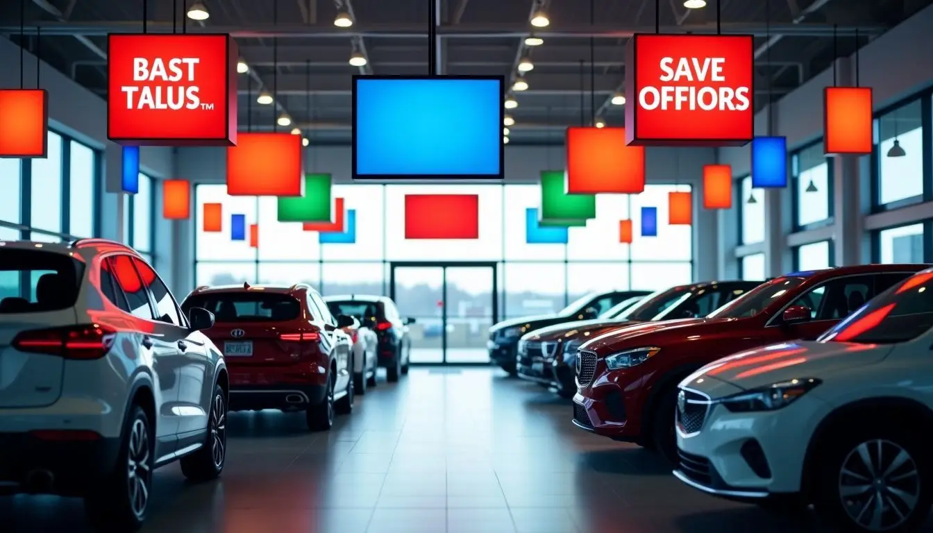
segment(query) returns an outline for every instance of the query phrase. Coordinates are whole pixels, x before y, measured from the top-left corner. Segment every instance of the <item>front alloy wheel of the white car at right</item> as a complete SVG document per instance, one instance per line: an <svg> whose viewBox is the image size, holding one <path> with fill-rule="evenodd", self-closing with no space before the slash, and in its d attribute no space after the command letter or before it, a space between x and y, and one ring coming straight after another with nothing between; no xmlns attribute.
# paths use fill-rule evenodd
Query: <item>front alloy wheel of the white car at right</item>
<svg viewBox="0 0 933 533"><path fill-rule="evenodd" d="M920 471L910 452L896 442L858 444L842 461L842 508L858 526L886 531L904 523L920 498Z"/></svg>

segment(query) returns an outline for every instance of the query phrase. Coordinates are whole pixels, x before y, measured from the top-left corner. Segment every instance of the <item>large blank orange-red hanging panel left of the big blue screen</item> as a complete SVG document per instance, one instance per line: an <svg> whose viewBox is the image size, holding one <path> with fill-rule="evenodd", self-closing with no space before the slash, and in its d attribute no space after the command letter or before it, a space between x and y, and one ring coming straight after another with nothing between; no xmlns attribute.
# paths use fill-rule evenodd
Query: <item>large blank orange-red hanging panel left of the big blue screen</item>
<svg viewBox="0 0 933 533"><path fill-rule="evenodd" d="M301 196L301 135L240 133L227 148L230 196Z"/></svg>

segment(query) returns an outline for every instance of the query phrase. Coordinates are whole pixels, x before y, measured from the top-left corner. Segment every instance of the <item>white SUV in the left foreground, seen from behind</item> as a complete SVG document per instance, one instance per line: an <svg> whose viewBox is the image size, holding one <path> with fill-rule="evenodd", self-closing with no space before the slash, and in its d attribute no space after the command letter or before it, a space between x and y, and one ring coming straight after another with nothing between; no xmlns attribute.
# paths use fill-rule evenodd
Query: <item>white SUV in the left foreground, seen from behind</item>
<svg viewBox="0 0 933 533"><path fill-rule="evenodd" d="M91 522L142 526L152 470L216 478L224 358L131 248L0 241L0 491L85 498Z"/></svg>

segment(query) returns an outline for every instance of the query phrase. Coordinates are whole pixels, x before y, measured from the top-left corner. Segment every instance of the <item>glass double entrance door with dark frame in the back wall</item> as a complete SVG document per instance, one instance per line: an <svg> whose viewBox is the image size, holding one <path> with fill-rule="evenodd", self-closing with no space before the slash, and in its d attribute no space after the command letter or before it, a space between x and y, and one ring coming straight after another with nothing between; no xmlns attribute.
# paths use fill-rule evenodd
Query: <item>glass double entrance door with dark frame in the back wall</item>
<svg viewBox="0 0 933 533"><path fill-rule="evenodd" d="M413 364L487 364L498 321L494 263L392 263L391 296L408 328Z"/></svg>

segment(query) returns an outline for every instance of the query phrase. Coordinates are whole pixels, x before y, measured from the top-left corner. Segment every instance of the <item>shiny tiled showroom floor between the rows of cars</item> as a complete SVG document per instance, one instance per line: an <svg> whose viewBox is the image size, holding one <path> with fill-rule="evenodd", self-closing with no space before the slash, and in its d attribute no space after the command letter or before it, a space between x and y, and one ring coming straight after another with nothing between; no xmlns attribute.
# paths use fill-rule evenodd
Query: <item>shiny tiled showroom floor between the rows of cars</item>
<svg viewBox="0 0 933 533"><path fill-rule="evenodd" d="M159 470L144 531L826 531L677 482L655 456L574 428L567 400L491 368L414 368L328 433L301 414L230 416L220 480ZM79 500L0 498L4 531L87 531Z"/></svg>

